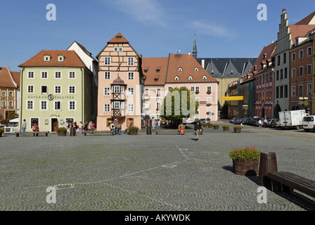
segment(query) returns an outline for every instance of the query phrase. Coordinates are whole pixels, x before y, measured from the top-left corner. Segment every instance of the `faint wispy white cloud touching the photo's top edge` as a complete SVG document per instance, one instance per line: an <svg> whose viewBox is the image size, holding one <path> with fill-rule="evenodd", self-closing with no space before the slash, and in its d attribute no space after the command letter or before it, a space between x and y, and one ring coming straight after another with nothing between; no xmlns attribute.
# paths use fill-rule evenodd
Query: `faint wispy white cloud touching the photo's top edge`
<svg viewBox="0 0 315 225"><path fill-rule="evenodd" d="M110 1L120 10L128 15L131 15L134 20L139 22L159 25L161 27L167 26L165 9L160 6L159 1L156 0L115 0Z"/></svg>

